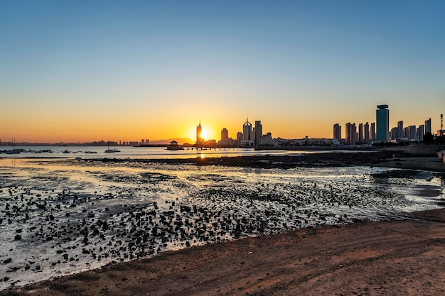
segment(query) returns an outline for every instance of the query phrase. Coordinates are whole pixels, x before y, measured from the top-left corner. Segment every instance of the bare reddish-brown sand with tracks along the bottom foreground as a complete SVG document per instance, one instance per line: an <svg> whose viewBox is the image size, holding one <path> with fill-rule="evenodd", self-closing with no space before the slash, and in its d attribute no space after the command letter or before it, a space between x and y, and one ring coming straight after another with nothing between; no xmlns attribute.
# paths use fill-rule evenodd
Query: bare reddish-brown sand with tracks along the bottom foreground
<svg viewBox="0 0 445 296"><path fill-rule="evenodd" d="M445 295L445 209L186 248L1 295Z"/></svg>

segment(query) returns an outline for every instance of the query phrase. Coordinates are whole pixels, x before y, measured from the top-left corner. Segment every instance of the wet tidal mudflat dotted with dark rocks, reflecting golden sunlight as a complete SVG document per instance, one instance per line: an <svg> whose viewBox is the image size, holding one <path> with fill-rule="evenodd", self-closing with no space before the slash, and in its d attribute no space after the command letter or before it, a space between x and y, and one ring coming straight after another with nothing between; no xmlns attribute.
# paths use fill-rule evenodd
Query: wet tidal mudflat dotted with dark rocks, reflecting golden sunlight
<svg viewBox="0 0 445 296"><path fill-rule="evenodd" d="M1 160L0 290L289 229L443 207L441 177L390 168Z"/></svg>

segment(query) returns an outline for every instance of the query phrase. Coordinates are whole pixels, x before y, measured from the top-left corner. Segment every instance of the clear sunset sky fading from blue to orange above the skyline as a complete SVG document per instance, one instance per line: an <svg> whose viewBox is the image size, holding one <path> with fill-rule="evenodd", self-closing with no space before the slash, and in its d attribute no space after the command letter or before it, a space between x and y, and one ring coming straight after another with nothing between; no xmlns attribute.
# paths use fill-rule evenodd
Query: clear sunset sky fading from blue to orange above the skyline
<svg viewBox="0 0 445 296"><path fill-rule="evenodd" d="M445 1L0 0L2 141L440 129Z"/></svg>

